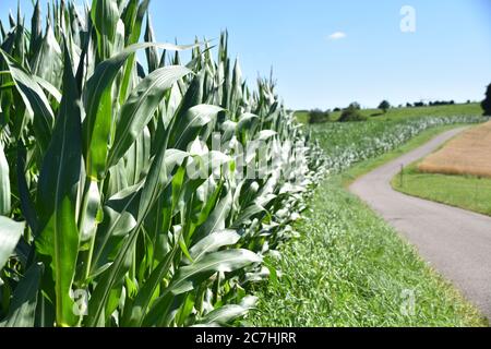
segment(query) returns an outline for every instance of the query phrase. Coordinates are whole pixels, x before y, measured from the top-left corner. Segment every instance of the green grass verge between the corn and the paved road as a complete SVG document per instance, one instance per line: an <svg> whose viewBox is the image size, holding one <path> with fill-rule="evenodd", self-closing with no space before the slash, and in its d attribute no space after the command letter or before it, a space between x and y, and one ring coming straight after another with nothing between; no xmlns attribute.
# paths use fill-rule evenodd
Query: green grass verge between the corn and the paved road
<svg viewBox="0 0 491 349"><path fill-rule="evenodd" d="M301 238L268 263L283 277L255 290L255 326L487 326L382 218L345 186L457 125L423 131L408 143L326 179L296 226ZM415 312L402 312L407 294Z"/></svg>

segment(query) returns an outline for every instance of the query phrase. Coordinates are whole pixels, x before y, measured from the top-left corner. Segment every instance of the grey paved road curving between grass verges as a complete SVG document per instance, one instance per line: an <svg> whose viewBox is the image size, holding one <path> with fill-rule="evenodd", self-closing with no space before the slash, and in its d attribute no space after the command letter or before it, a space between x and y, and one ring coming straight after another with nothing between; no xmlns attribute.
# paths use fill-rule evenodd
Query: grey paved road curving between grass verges
<svg viewBox="0 0 491 349"><path fill-rule="evenodd" d="M407 196L390 184L400 165L427 156L464 130L436 136L360 178L350 190L400 231L427 262L491 320L491 217Z"/></svg>

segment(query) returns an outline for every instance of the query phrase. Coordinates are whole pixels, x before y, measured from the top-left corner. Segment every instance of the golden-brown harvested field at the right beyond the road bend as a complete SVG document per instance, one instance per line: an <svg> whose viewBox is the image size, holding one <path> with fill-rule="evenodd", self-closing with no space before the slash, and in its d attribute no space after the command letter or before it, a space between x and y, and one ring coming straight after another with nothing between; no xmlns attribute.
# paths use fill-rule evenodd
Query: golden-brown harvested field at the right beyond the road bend
<svg viewBox="0 0 491 349"><path fill-rule="evenodd" d="M491 177L491 121L472 128L428 156L419 170Z"/></svg>

